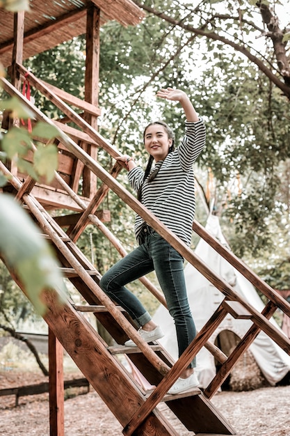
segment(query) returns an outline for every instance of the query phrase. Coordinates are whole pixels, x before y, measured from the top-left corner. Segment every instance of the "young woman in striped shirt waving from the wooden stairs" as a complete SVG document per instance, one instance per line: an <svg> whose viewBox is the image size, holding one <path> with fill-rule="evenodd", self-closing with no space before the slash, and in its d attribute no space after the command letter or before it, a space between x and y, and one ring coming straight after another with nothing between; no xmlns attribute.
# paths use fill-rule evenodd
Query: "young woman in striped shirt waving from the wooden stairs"
<svg viewBox="0 0 290 436"><path fill-rule="evenodd" d="M150 155L145 171L128 155L117 159L126 163L129 182L141 203L189 245L195 213L192 167L204 147L205 127L184 91L161 89L157 96L177 101L184 109L186 128L182 142L175 149L172 131L168 125L157 121L150 123L144 131L144 145ZM175 321L180 357L196 334L184 281L184 258L139 215L136 216L135 233L139 247L111 267L102 277L100 286L135 320L140 327L138 334L148 343L163 337L163 332L125 286L155 270ZM125 345L134 346L135 343L129 340ZM195 359L173 384L169 394L179 394L198 386L194 367Z"/></svg>

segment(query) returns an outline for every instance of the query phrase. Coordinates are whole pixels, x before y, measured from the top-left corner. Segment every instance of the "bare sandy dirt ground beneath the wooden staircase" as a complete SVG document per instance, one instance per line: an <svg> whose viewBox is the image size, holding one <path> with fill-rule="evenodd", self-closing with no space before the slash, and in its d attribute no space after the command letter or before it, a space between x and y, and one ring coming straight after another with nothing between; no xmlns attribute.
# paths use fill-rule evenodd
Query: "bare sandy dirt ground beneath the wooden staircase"
<svg viewBox="0 0 290 436"><path fill-rule="evenodd" d="M80 373L69 377L82 377ZM0 389L47 381L37 373L0 371ZM86 391L86 388L83 392ZM78 391L79 392L79 391ZM69 392L71 396L75 392ZM225 419L243 436L290 436L290 386L266 387L254 391L223 391L214 396L212 403ZM166 405L159 410L170 421L179 436L194 435L172 416ZM49 436L48 395L41 394L19 398L0 397L0 435ZM88 394L65 400L65 436L117 436L122 426L93 389Z"/></svg>

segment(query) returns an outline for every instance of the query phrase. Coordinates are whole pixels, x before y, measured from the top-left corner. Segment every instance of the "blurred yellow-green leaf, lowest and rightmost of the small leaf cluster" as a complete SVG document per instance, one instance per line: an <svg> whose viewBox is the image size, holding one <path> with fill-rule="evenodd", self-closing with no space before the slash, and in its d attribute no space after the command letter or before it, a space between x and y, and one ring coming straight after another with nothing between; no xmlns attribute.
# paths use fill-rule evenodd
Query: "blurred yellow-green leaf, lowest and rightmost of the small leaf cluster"
<svg viewBox="0 0 290 436"><path fill-rule="evenodd" d="M45 176L48 182L54 179L54 171L58 167L58 149L54 144L38 146L34 154L35 170Z"/></svg>

